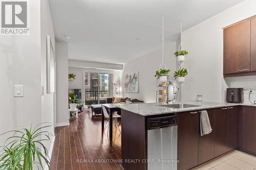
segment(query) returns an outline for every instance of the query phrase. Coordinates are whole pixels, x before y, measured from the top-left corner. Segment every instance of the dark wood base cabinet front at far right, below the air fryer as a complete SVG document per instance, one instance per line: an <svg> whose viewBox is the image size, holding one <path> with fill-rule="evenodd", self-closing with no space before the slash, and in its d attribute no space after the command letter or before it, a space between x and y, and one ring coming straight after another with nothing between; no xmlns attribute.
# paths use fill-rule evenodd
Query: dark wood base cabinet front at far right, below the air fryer
<svg viewBox="0 0 256 170"><path fill-rule="evenodd" d="M256 154L256 108L243 106L242 149Z"/></svg>

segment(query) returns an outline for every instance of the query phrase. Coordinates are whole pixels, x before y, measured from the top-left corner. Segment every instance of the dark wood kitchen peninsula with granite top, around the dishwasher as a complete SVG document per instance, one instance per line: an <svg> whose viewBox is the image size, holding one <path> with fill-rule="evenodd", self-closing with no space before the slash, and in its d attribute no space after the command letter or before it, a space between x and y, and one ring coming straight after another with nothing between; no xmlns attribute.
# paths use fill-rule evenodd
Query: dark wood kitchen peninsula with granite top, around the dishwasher
<svg viewBox="0 0 256 170"><path fill-rule="evenodd" d="M188 105L198 105L188 108L171 108L160 106L156 103L149 104L122 104L122 168L150 169L152 151L148 152L148 120L168 117L173 125L177 125L177 153L178 169L190 169L210 159L218 157L233 149L240 149L247 153L256 154L253 142L256 142L256 134L253 131L253 141L248 142L248 122L254 116L256 119L256 106L251 104L231 104L212 102L181 102ZM200 135L200 112L207 110L212 132L208 135ZM253 116L252 116L253 115ZM177 123L169 117L177 117ZM176 123L176 124L175 124ZM250 128L256 129L251 122ZM243 133L246 131L247 133ZM175 137L175 133L173 134ZM255 141L254 141L255 140ZM161 144L159 139L159 145ZM173 143L170 141L170 143ZM174 145L174 144L173 144ZM172 145L172 150L174 146ZM169 148L162 148L162 150ZM159 158L161 159L161 158ZM137 160L137 161L129 161ZM177 162L175 162L177 163ZM173 166L173 162L164 163ZM159 164L161 166L161 164ZM176 167L177 168L177 167ZM172 169L172 168L170 168Z"/></svg>

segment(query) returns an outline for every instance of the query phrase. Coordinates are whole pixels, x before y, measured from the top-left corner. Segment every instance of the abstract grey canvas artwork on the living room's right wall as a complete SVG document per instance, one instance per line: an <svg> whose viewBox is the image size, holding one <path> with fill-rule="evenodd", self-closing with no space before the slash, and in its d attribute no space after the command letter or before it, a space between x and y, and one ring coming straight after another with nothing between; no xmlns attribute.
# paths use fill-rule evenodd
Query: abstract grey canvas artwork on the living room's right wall
<svg viewBox="0 0 256 170"><path fill-rule="evenodd" d="M137 93L138 88L138 72L124 75L124 92Z"/></svg>

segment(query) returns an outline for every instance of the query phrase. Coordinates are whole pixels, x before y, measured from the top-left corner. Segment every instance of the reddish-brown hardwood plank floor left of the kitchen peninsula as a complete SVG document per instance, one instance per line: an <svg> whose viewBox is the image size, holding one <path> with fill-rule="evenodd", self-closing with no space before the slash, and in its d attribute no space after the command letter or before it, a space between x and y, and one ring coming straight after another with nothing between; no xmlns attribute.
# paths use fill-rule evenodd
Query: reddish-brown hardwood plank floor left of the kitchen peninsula
<svg viewBox="0 0 256 170"><path fill-rule="evenodd" d="M101 133L101 115L92 118L85 111L71 117L70 126L56 128L51 170L121 169L121 134L113 127L110 142L106 131Z"/></svg>

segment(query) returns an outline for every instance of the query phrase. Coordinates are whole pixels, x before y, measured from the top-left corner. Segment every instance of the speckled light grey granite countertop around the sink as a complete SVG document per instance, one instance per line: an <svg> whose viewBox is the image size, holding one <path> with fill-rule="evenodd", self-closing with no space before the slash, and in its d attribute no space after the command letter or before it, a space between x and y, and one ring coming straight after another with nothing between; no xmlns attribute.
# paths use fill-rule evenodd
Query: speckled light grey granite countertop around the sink
<svg viewBox="0 0 256 170"><path fill-rule="evenodd" d="M166 114L166 113L178 113L185 111L193 110L202 110L202 109L211 109L219 107L230 107L230 106L253 106L253 104L238 104L238 103L215 103L215 102L197 102L197 101L186 101L186 102L177 102L190 105L200 105L198 107L189 107L189 108L170 108L165 106L160 106L157 103L141 103L141 104L116 104L117 107L127 110L133 113L137 113L143 116Z"/></svg>

